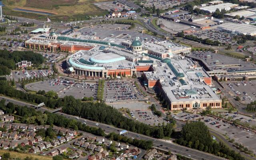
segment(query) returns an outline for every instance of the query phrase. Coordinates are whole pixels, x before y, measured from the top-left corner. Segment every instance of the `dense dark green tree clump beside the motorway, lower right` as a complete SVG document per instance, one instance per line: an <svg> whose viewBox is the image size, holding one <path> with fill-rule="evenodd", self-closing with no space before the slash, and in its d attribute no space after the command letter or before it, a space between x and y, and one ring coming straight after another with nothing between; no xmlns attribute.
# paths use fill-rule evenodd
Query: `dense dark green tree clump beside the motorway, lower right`
<svg viewBox="0 0 256 160"><path fill-rule="evenodd" d="M234 150L230 150L221 142L213 141L210 132L204 122L191 122L183 126L178 134L176 142L182 146L187 146L196 150L222 156L230 160L244 160L244 158Z"/></svg>

